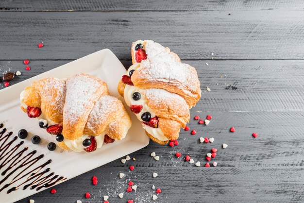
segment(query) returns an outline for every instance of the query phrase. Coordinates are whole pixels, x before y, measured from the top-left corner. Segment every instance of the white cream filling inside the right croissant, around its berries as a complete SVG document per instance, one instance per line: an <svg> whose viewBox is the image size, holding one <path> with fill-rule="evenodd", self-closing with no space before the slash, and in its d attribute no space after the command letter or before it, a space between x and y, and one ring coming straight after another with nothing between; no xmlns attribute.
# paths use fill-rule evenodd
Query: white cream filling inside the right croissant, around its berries
<svg viewBox="0 0 304 203"><path fill-rule="evenodd" d="M129 75L130 70L135 70L138 67L139 67L138 63L135 63L134 65L132 65L128 69L128 75ZM132 95L133 95L134 92L139 92L140 93L140 95L141 95L140 100L138 100L138 101L133 100ZM147 100L146 100L145 95L143 93L144 93L144 90L139 89L139 88L137 88L136 86L133 86L133 85L126 85L126 87L124 89L124 92L123 92L124 99L125 99L126 104L128 106L131 106L131 105L142 105L143 106L142 110L138 114L135 114L136 117L140 121L143 121L141 119L141 115L143 113L145 113L145 112L151 113L151 118L153 118L153 117L156 116L155 113L152 111L152 109L147 105ZM157 138L157 139L159 139L161 141L167 141L167 140L169 140L164 135L164 133L161 131L160 128L152 128L152 127L150 127L149 125L146 125L146 124L142 124L142 126L153 137L155 137L155 138Z"/></svg>

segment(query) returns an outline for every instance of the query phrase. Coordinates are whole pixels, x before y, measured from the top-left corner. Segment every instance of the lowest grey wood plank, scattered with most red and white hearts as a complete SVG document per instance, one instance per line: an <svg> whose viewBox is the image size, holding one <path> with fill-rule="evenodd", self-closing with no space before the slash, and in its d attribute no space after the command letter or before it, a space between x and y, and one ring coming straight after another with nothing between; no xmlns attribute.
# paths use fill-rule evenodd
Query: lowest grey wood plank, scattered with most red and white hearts
<svg viewBox="0 0 304 203"><path fill-rule="evenodd" d="M202 112L203 118L207 112ZM191 117L196 115L191 111ZM128 199L135 202L151 202L152 184L160 187L162 193L157 202L294 202L304 201L304 128L303 112L212 112L213 119L208 126L197 124L191 119L190 128L197 135L181 131L178 146L159 146L150 143L147 147L130 154L136 161L122 164L120 159L98 169L89 171L59 186L57 193L43 191L30 198L36 202L67 203L83 200L85 203L101 203L104 195L110 202L125 203ZM229 128L235 126L236 132ZM251 134L257 132L257 138ZM213 143L202 144L200 136L214 137ZM226 149L221 144L226 143ZM190 155L204 165L205 154L211 148L218 149L213 161L216 168L195 167L183 161ZM160 156L157 162L151 156ZM182 157L175 158L175 152ZM128 167L135 166L130 172ZM126 178L119 179L119 172ZM158 177L152 178L157 172ZM99 178L97 186L91 184L91 177ZM127 183L132 180L137 185L136 192L127 193ZM92 197L85 199L90 192ZM124 198L117 194L124 192ZM181 195L182 194L182 195Z"/></svg>

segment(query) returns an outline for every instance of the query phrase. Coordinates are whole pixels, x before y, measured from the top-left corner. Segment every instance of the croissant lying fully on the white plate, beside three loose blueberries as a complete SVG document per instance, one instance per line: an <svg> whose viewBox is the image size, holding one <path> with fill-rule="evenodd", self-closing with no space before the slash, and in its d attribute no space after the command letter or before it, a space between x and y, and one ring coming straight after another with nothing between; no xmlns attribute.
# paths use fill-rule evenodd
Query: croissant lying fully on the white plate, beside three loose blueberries
<svg viewBox="0 0 304 203"><path fill-rule="evenodd" d="M36 81L24 89L20 101L30 118L38 118L41 128L57 135L64 150L93 152L103 143L123 139L132 124L106 83L83 73Z"/></svg>

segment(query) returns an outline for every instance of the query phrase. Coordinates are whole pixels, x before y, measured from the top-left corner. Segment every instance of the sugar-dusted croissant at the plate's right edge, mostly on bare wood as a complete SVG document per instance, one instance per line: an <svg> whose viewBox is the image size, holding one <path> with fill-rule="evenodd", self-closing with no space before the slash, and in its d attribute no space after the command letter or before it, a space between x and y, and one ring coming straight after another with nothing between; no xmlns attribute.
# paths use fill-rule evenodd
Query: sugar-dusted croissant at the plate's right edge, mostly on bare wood
<svg viewBox="0 0 304 203"><path fill-rule="evenodd" d="M152 40L134 42L131 52L133 65L119 81L118 92L142 121L146 134L166 144L178 138L190 119L189 109L201 98L197 72Z"/></svg>

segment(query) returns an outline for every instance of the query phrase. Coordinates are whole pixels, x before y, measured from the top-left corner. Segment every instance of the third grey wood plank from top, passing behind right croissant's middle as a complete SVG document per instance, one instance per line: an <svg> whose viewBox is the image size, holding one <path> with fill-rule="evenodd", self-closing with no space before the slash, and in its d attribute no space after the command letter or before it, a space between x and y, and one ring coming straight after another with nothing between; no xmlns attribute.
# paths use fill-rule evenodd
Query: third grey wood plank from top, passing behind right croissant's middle
<svg viewBox="0 0 304 203"><path fill-rule="evenodd" d="M21 70L11 85L69 61L31 61L24 70L22 61L0 61L0 74ZM193 111L304 111L303 60L183 61L197 69L203 91ZM130 61L122 61L125 67ZM205 65L208 63L208 66ZM211 91L206 90L208 86ZM0 89L3 82L0 83Z"/></svg>

